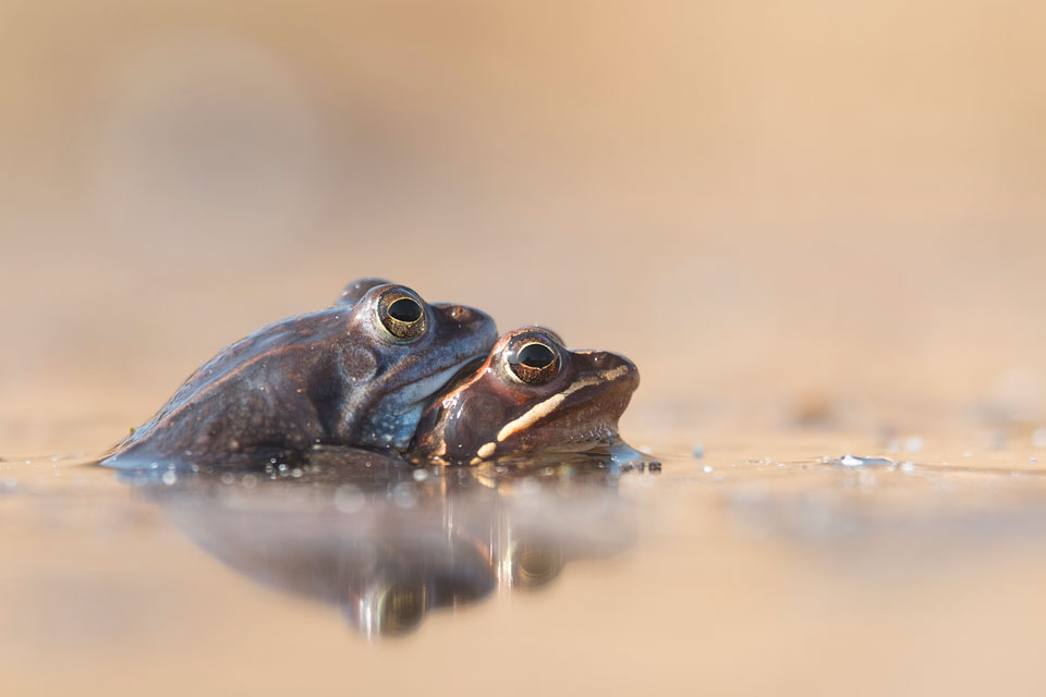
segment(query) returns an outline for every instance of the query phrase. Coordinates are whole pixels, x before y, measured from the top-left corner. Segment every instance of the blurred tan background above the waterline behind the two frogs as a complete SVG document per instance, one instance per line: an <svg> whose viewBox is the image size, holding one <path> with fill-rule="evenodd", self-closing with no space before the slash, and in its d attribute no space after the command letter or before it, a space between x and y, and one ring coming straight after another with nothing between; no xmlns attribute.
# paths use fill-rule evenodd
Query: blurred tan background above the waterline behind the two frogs
<svg viewBox="0 0 1046 697"><path fill-rule="evenodd" d="M0 439L372 274L628 354L634 429L1036 424L1044 65L1032 1L2 0Z"/></svg>

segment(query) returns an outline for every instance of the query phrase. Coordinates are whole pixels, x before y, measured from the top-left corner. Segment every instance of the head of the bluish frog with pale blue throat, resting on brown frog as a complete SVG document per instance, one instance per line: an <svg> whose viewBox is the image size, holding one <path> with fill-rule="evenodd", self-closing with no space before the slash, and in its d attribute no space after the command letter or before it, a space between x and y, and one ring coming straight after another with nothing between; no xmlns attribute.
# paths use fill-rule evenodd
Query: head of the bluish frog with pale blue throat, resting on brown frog
<svg viewBox="0 0 1046 697"><path fill-rule="evenodd" d="M336 368L348 442L404 449L422 411L463 366L497 341L486 314L429 304L405 285L367 279L349 305L348 331ZM344 296L343 296L344 297ZM336 306L337 307L337 306Z"/></svg>

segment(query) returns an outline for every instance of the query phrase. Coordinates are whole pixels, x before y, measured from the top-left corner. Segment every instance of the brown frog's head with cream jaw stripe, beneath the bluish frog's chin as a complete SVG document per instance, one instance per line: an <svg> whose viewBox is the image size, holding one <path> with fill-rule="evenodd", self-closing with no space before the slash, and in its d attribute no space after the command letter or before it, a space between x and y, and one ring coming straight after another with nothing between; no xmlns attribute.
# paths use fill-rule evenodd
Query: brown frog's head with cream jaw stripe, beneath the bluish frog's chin
<svg viewBox="0 0 1046 697"><path fill-rule="evenodd" d="M472 461L586 449L617 439L618 419L638 383L623 356L568 351L547 329L516 329L428 407L413 451Z"/></svg>

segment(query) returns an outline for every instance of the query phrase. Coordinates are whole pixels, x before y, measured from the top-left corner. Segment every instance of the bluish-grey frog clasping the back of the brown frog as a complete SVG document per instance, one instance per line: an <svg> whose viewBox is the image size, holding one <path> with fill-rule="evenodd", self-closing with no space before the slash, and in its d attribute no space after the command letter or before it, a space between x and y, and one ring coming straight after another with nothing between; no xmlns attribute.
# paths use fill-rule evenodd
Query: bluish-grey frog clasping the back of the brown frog
<svg viewBox="0 0 1046 697"><path fill-rule="evenodd" d="M485 313L368 278L202 365L102 465L156 467L343 445L402 451L425 406L498 338Z"/></svg>

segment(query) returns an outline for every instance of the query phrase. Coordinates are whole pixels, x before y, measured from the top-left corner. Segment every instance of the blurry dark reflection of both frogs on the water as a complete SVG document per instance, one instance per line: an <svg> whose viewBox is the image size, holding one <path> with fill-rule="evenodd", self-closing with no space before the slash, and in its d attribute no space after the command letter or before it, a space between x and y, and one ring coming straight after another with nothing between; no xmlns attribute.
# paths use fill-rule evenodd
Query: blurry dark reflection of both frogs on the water
<svg viewBox="0 0 1046 697"><path fill-rule="evenodd" d="M497 589L543 587L568 561L635 539L621 468L589 455L415 467L320 449L119 476L215 559L337 606L368 637L408 633L430 610Z"/></svg>

